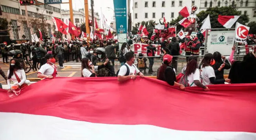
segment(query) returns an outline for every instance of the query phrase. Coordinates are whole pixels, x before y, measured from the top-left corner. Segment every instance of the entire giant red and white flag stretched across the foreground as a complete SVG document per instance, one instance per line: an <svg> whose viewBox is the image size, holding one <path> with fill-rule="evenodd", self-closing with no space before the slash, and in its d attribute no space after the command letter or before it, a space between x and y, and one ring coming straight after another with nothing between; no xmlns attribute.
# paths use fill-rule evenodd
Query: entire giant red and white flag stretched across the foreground
<svg viewBox="0 0 256 140"><path fill-rule="evenodd" d="M58 77L12 99L0 89L0 140L255 140L256 84L208 87Z"/></svg>

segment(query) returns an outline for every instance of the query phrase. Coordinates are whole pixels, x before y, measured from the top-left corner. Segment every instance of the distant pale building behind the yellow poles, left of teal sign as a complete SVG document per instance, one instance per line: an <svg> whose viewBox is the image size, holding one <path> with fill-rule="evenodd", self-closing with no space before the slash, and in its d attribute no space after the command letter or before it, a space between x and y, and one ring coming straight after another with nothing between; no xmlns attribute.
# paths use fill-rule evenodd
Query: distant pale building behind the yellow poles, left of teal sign
<svg viewBox="0 0 256 140"><path fill-rule="evenodd" d="M62 19L70 19L69 10L61 10L62 11ZM99 13L94 12L94 18L96 18L98 25L100 24ZM74 25L81 25L85 23L85 15L84 9L79 9L78 11L73 10L73 19ZM89 20L91 20L91 9L89 10Z"/></svg>

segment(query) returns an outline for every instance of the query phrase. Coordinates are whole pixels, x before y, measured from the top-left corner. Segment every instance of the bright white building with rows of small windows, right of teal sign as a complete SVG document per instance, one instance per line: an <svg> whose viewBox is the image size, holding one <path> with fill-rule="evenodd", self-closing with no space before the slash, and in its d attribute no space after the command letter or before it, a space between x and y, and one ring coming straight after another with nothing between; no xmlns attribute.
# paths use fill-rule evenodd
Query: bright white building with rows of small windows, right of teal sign
<svg viewBox="0 0 256 140"><path fill-rule="evenodd" d="M199 3L200 0L133 0L132 25L148 20L155 20L158 23L163 17L171 21L179 16L179 11L183 7L190 8Z"/></svg>

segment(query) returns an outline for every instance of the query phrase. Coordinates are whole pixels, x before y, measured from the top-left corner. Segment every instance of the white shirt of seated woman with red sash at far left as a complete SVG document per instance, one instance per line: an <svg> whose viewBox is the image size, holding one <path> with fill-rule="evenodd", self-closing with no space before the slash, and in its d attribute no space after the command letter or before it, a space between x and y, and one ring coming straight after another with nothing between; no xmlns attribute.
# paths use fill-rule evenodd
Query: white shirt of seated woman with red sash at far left
<svg viewBox="0 0 256 140"><path fill-rule="evenodd" d="M18 84L20 86L26 82L26 73L23 69L17 70L17 71L15 71L15 73L20 78L20 83L18 83L18 80L16 79L16 76L13 72L11 79L7 79L8 89L11 89L11 82L13 82L13 84ZM10 70L8 70L8 72L7 72L7 77L9 76L9 74L10 74Z"/></svg>

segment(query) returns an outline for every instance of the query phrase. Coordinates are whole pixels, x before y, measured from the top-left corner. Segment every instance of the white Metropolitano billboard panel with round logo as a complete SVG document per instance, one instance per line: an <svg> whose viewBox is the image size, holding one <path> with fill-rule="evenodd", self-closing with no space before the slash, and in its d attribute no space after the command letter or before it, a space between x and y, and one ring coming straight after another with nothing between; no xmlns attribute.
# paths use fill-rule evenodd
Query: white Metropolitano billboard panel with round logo
<svg viewBox="0 0 256 140"><path fill-rule="evenodd" d="M220 52L222 55L230 55L234 45L235 31L210 31L207 37L208 53Z"/></svg>

